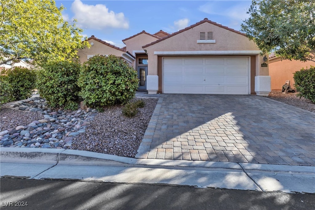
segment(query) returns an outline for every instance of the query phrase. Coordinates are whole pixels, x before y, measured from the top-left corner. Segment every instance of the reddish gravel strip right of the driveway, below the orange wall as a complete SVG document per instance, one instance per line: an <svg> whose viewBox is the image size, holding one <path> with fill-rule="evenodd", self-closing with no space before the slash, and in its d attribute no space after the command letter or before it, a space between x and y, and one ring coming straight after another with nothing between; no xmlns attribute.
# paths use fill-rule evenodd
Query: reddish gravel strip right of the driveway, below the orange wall
<svg viewBox="0 0 315 210"><path fill-rule="evenodd" d="M298 93L284 94L281 93L281 90L272 90L268 98L315 112L315 104L313 104L309 99L305 99L303 97L300 98L297 94Z"/></svg>

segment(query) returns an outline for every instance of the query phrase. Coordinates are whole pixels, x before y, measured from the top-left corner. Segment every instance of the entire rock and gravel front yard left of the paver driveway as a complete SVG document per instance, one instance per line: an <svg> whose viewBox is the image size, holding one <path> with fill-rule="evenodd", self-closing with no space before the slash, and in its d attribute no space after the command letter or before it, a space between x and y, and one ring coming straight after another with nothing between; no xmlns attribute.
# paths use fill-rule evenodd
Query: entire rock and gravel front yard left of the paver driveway
<svg viewBox="0 0 315 210"><path fill-rule="evenodd" d="M140 98L134 98L133 101ZM151 119L157 98L135 117L125 117L116 105L95 109L52 110L35 97L1 106L0 147L63 148L134 157Z"/></svg>

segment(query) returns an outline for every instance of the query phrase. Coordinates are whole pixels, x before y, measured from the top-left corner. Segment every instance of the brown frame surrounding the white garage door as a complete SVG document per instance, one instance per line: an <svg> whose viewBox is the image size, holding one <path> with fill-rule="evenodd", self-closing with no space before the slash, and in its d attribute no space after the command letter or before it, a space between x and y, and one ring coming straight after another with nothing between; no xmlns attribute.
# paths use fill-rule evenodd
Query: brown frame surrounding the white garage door
<svg viewBox="0 0 315 210"><path fill-rule="evenodd" d="M240 56L161 56L162 57L162 93L164 93L164 59L172 59L172 58L247 58L247 94L251 94L251 57L248 55L240 55ZM225 75L226 76L226 75ZM189 94L189 93L188 93ZM192 93L192 94L197 94L197 93ZM200 93L200 94L212 94L212 93ZM213 94L218 94L218 93L213 93ZM228 94L228 93L227 93Z"/></svg>

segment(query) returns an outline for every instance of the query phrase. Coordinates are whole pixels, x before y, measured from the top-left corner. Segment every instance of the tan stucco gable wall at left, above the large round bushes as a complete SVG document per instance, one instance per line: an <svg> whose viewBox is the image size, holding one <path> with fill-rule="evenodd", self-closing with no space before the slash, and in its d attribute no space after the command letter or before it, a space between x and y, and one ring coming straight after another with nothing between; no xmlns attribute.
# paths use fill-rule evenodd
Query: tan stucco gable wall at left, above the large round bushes
<svg viewBox="0 0 315 210"><path fill-rule="evenodd" d="M109 47L105 44L102 44L96 40L90 39L88 42L91 44L93 42L93 46L90 48L83 48L78 50L77 55L80 56L80 62L83 63L88 60L87 55L116 55L117 57L121 57L123 51L117 50L115 48Z"/></svg>

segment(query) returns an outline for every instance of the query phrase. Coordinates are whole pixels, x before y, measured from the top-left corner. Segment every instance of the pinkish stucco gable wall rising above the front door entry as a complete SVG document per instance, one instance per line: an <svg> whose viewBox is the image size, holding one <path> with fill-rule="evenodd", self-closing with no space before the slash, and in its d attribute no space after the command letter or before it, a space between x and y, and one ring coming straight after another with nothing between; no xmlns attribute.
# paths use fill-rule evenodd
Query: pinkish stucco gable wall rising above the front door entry
<svg viewBox="0 0 315 210"><path fill-rule="evenodd" d="M126 49L128 52L130 52L132 54L132 51L134 50L143 50L142 46L152 43L154 41L156 41L158 38L152 37L148 34L142 33L139 34L138 36L132 37L126 41L124 41L124 43L126 44Z"/></svg>

